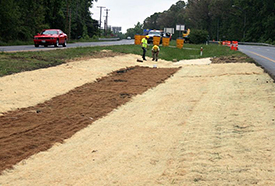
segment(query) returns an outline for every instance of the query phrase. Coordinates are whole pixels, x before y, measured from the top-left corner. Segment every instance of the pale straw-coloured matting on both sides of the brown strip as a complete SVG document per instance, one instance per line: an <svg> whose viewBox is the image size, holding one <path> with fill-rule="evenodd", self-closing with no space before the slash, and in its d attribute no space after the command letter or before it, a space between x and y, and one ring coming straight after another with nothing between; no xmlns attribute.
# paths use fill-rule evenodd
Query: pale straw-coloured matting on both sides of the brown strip
<svg viewBox="0 0 275 186"><path fill-rule="evenodd" d="M11 96L1 98L0 112L62 95L136 59L92 59L0 78L0 97ZM5 171L0 185L274 185L273 80L252 63L157 66L182 68Z"/></svg>

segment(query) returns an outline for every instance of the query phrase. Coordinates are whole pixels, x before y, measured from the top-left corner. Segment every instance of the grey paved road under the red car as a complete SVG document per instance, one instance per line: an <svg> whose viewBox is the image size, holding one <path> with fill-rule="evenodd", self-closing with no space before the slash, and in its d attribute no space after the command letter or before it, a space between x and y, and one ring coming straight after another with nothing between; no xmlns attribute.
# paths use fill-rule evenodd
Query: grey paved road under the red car
<svg viewBox="0 0 275 186"><path fill-rule="evenodd" d="M76 48L76 47L88 47L88 46L110 46L110 45L127 45L134 44L134 40L120 40L120 41L104 41L104 42L83 42L83 43L72 43L67 44L66 48ZM0 52L16 52L16 51L39 51L39 50L54 50L54 49L62 49L62 45L58 48L52 46L43 47L40 46L38 48L34 47L34 45L22 45L22 46L0 46Z"/></svg>

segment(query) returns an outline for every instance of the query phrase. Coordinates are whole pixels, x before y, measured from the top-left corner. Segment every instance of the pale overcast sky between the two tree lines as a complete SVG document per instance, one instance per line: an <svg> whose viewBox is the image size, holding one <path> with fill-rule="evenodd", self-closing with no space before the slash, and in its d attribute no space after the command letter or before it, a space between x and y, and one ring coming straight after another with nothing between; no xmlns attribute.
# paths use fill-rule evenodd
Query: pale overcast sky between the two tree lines
<svg viewBox="0 0 275 186"><path fill-rule="evenodd" d="M121 26L122 32L126 33L128 28L134 28L138 22L143 24L144 19L155 12L168 10L171 5L179 0L98 0L94 2L91 12L92 18L99 20L100 8L110 9L108 12L108 25ZM106 11L102 9L101 27L104 26Z"/></svg>

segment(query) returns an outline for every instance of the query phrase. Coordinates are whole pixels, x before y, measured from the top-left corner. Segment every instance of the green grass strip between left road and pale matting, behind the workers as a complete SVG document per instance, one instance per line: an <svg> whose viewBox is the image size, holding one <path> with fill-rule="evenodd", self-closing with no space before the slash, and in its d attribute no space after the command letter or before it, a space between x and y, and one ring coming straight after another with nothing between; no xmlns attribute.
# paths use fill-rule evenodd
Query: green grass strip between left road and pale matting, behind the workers
<svg viewBox="0 0 275 186"><path fill-rule="evenodd" d="M173 45L173 43L172 43ZM203 46L203 56L200 56L200 48ZM148 47L147 56L151 57L151 47ZM238 51L231 51L229 47L219 45L191 45L185 44L183 49L178 49L174 46L160 47L161 51L159 58L167 61L173 59L198 59L205 57L219 56L241 56L244 55ZM139 45L119 45L119 46L104 46L104 47L79 47L69 49L58 49L51 51L36 51L36 52L16 52L4 53L0 52L0 77L30 71L39 68L47 68L60 65L68 60L74 60L81 57L93 56L100 50L112 50L114 52L126 54L142 54L142 49Z"/></svg>

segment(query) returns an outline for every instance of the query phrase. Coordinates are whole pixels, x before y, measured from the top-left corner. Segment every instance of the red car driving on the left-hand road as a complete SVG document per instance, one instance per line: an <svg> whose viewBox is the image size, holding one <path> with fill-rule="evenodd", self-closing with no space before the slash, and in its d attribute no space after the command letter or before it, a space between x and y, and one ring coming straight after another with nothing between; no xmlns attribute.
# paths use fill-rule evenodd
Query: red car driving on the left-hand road
<svg viewBox="0 0 275 186"><path fill-rule="evenodd" d="M55 47L63 45L63 47L66 47L67 34L60 29L45 29L34 36L33 41L35 47L39 47L39 45L44 45L44 47L48 45L54 45Z"/></svg>

